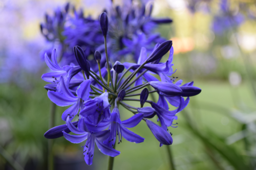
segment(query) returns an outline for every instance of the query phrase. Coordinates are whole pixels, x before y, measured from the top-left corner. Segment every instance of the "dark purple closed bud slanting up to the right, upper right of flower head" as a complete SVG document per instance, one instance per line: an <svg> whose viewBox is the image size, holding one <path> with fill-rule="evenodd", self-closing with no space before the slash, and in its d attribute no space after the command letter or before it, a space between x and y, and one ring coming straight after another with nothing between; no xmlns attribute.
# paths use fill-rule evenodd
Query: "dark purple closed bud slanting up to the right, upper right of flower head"
<svg viewBox="0 0 256 170"><path fill-rule="evenodd" d="M155 60L161 59L172 47L173 41L164 41L161 43L153 53L147 58L146 62L150 63Z"/></svg>

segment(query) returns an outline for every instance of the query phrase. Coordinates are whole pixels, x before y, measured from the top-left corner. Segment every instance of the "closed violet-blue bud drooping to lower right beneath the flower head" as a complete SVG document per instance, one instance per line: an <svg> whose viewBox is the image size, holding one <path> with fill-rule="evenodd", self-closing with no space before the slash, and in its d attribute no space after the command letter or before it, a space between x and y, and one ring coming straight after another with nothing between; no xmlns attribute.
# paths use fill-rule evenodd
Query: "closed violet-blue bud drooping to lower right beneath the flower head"
<svg viewBox="0 0 256 170"><path fill-rule="evenodd" d="M172 136L170 136L166 129L164 130L163 128L148 119L146 119L146 125L148 126L148 128L150 128L156 139L162 144L170 145L173 143L173 138Z"/></svg>

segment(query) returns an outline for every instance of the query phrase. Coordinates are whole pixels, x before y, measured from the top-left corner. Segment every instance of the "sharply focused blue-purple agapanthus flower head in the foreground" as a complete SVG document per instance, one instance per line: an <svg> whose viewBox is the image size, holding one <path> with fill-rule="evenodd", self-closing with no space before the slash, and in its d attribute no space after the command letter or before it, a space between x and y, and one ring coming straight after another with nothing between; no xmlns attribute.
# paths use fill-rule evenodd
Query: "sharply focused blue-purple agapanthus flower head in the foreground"
<svg viewBox="0 0 256 170"><path fill-rule="evenodd" d="M124 15L120 8L116 8L116 12L120 18ZM84 22L83 15L76 13L75 17L77 17L76 21ZM146 14L143 6L140 8L139 14L133 10L130 11L124 22L128 26L131 20L144 17L147 17L150 22L169 22L168 20L153 20L150 15ZM112 17L110 21L113 21ZM93 20L88 20L89 22L94 23ZM174 54L172 41L156 43L151 50L140 47L137 63L113 61L115 64L112 68L108 50L112 52L114 50L112 46L108 47L111 43L107 41L109 35L106 37L108 32L106 13L101 14L99 22L100 26L98 27L102 29L103 36L100 36L104 39L105 49L92 52L92 48L87 47L83 50L80 46L74 45L74 56L78 65L75 66L75 64L70 63L63 67L58 65L54 50L51 57L52 61L48 55L45 56L45 61L55 72L42 76L42 79L51 83L47 85L49 99L58 106L70 106L61 116L66 125L50 129L46 132L45 137L57 138L63 135L72 143L87 140L82 147L84 160L89 165L93 162L95 143L103 154L115 157L120 154L119 151L113 149L116 141L119 144L122 142L122 138L125 138L134 143L143 142L143 137L127 129L137 126L141 120L146 122L147 127L160 142L160 147L163 144L172 144L173 139L168 127L177 127L174 120L178 118L177 113L189 103L188 96L197 95L201 92L200 88L193 86L193 82L181 85L182 82L177 81L174 84L174 79L171 78L175 72L172 68ZM91 34L88 36L90 37ZM105 51L104 58L101 58L100 51ZM161 63L160 60L168 51L170 52L168 59ZM147 52L151 52L148 57ZM94 62L97 63L97 69L91 68L87 60L87 56L91 54L95 56ZM66 59L62 58L62 61ZM126 68L125 71L124 68ZM152 86L155 90L148 91L146 86ZM140 92L141 89L143 90ZM148 100L148 95L151 93L158 94L157 103ZM131 98L133 96L140 96L140 99ZM186 99L184 99L185 96L187 96ZM125 101L138 103L131 106ZM177 108L169 110L167 102ZM151 106L144 107L145 103L149 103ZM121 120L118 109L120 105L134 115L129 119ZM121 114L124 114L122 112ZM161 127L148 120L148 118L155 116L158 117ZM69 132L76 135L69 134Z"/></svg>

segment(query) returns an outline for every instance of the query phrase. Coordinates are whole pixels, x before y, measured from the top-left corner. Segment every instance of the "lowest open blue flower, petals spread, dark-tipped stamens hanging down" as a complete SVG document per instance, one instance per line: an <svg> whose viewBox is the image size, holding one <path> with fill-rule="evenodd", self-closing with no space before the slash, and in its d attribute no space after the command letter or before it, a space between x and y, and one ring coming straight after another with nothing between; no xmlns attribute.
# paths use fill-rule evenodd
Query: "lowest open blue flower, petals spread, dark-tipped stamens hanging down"
<svg viewBox="0 0 256 170"><path fill-rule="evenodd" d="M76 128L70 122L69 117L67 117L66 123L71 132L78 134L78 135L70 135L65 131L63 131L63 135L67 140L69 140L72 143L80 143L87 139L86 144L84 144L83 146L83 157L88 165L91 165L93 163L95 142L99 151L105 155L115 157L120 154L119 151L116 151L115 149L102 143L106 138L109 137L110 135L109 131L105 130L100 132L92 132L87 128L83 118L79 119L78 128Z"/></svg>

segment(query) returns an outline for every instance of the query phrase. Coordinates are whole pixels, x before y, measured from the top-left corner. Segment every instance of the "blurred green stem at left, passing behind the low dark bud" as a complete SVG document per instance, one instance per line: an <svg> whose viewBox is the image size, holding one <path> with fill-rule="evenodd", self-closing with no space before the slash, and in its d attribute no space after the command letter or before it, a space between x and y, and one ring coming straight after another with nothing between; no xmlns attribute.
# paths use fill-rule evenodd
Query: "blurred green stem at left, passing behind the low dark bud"
<svg viewBox="0 0 256 170"><path fill-rule="evenodd" d="M49 129L54 127L55 114L56 114L56 105L53 102L51 102ZM52 148L53 148L53 139L48 139L48 170L54 169Z"/></svg>

